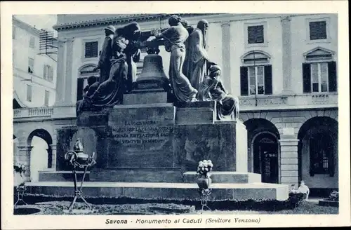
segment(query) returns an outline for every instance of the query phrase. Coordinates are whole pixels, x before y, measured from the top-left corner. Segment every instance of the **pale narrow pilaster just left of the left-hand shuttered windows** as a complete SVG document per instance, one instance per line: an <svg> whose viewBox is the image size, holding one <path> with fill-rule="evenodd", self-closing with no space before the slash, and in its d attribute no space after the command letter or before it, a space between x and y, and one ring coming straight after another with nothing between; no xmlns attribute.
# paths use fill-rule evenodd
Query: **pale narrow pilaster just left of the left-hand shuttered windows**
<svg viewBox="0 0 351 230"><path fill-rule="evenodd" d="M74 104L72 100L72 92L73 90L77 90L72 88L72 64L73 64L73 42L74 39L70 38L67 39L67 56L66 56L66 69L65 69L65 77L66 77L66 85L65 85L65 97L64 97L64 104Z"/></svg>

